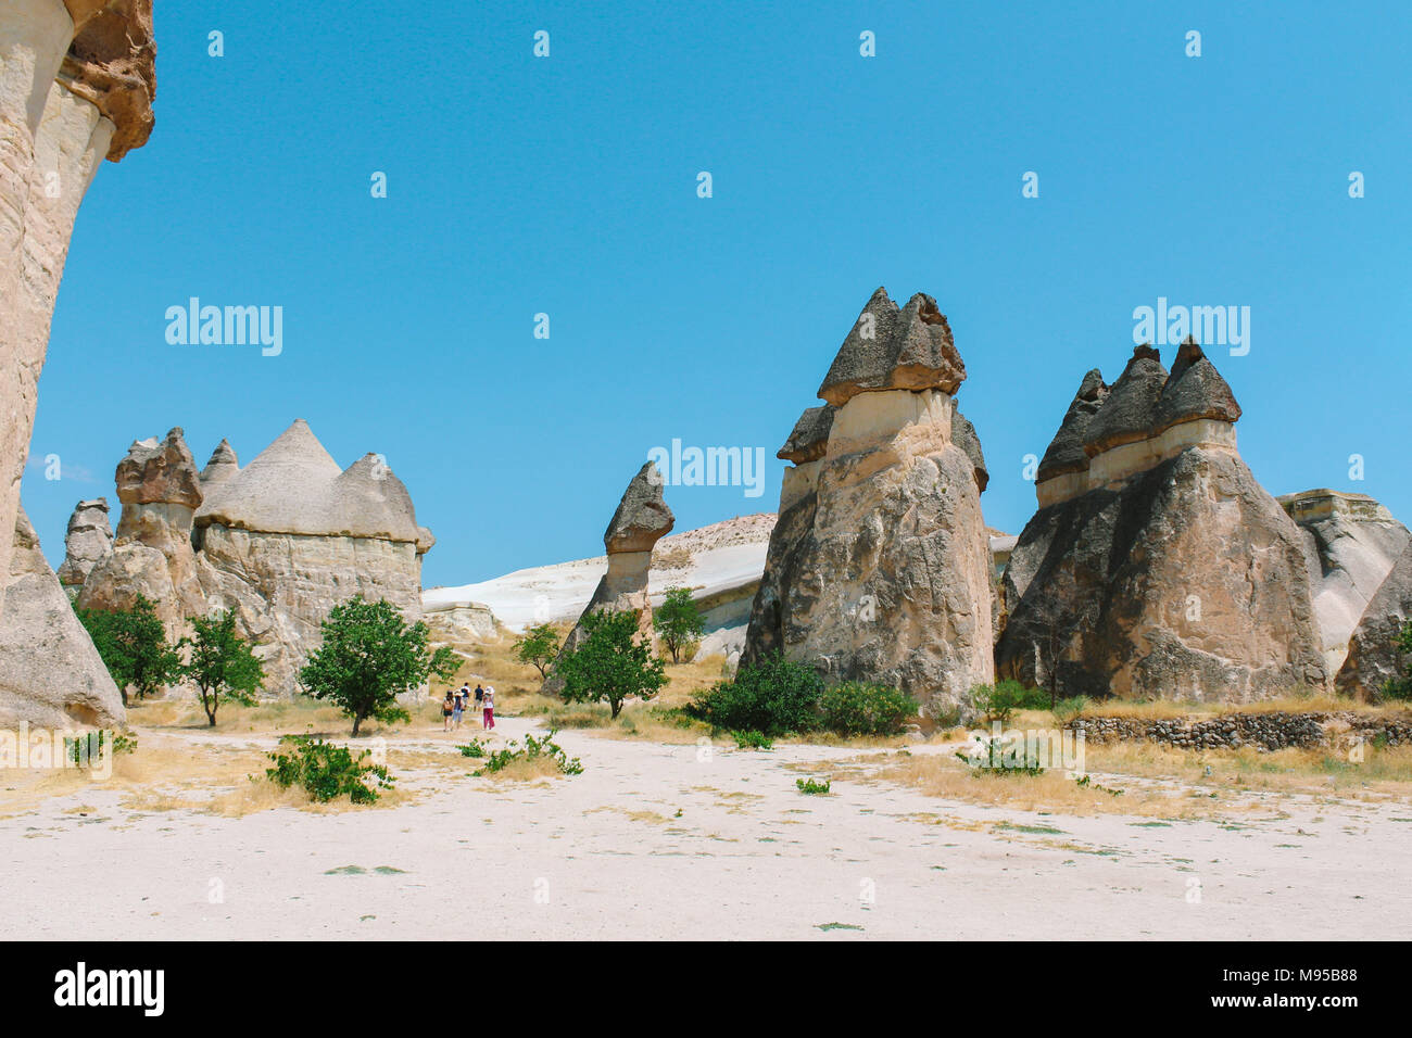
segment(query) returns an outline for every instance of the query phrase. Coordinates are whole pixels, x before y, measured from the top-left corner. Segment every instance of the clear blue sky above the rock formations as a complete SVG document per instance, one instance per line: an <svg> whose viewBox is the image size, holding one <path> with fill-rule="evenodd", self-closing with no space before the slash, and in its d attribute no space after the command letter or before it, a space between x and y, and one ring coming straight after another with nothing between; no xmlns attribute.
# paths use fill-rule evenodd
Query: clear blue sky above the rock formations
<svg viewBox="0 0 1412 1038"><path fill-rule="evenodd" d="M600 552L674 438L770 459L760 499L669 487L678 530L772 511L882 284L950 318L991 525L1029 518L1024 456L1158 297L1251 308L1248 356L1211 353L1271 493L1409 521L1409 10L158 0L157 129L79 213L25 506L58 562L131 439L249 462L301 417L340 465L387 456L428 586ZM192 295L284 306L282 354L169 346Z"/></svg>

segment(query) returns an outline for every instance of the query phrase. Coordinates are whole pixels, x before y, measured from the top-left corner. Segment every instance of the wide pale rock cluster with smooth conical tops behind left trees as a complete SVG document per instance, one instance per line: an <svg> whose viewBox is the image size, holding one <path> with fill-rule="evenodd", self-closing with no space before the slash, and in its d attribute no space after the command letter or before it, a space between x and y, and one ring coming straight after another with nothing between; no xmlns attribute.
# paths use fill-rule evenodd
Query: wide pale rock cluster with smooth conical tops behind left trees
<svg viewBox="0 0 1412 1038"><path fill-rule="evenodd" d="M196 470L182 431L134 443L117 466L113 551L79 593L90 609L157 603L175 636L230 609L256 643L265 692L292 695L329 610L354 595L421 619L421 561L435 544L378 455L339 469L304 419L246 467L222 441Z"/></svg>

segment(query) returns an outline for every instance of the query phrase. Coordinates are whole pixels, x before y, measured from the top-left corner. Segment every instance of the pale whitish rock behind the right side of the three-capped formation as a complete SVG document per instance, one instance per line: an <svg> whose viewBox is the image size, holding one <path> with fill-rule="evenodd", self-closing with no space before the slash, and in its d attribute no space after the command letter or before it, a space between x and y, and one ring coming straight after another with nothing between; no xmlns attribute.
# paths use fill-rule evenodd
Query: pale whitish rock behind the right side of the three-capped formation
<svg viewBox="0 0 1412 1038"><path fill-rule="evenodd" d="M1279 504L1303 534L1324 662L1337 674L1348 638L1408 547L1408 528L1365 494L1306 490Z"/></svg>

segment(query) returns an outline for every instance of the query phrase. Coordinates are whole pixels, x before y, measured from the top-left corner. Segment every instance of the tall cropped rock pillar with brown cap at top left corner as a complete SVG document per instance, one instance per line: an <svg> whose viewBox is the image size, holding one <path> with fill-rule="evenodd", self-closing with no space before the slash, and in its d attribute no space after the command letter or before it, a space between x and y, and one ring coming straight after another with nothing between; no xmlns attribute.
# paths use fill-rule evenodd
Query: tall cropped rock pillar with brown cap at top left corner
<svg viewBox="0 0 1412 1038"><path fill-rule="evenodd" d="M140 147L155 93L151 0L0 6L0 530L13 530L35 388L79 202ZM0 575L11 544L0 537ZM0 586L0 600L4 587Z"/></svg>

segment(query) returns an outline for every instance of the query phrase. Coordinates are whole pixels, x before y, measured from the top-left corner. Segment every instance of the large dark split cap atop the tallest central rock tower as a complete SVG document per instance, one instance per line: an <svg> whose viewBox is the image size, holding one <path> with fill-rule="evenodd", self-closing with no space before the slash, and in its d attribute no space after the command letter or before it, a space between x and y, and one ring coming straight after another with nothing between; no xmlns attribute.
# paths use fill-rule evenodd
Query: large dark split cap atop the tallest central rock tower
<svg viewBox="0 0 1412 1038"><path fill-rule="evenodd" d="M887 290L878 288L849 329L819 397L843 407L858 393L875 390L956 393L964 380L966 364L936 299L918 292L898 309Z"/></svg>

